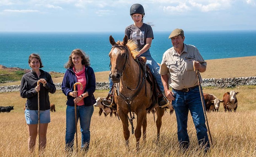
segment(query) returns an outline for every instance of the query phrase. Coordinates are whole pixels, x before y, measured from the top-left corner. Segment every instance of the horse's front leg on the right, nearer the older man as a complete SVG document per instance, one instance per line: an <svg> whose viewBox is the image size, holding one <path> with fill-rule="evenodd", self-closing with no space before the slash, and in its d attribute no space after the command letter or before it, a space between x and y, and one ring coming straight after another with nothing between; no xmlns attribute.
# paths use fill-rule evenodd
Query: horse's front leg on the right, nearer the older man
<svg viewBox="0 0 256 157"><path fill-rule="evenodd" d="M142 123L144 123L144 119L146 117L146 110L140 109L137 113L137 126L135 129L135 138L136 138L136 150L139 151L139 139L141 138L141 127ZM146 132L146 127L143 128Z"/></svg>

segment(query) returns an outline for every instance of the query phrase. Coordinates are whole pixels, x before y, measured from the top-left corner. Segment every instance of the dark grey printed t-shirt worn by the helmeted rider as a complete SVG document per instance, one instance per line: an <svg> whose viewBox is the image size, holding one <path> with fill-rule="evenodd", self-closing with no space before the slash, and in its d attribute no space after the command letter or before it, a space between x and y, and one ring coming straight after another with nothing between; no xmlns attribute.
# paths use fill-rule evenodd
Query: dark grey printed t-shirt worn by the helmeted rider
<svg viewBox="0 0 256 157"><path fill-rule="evenodd" d="M128 36L128 39L137 40L139 50L146 45L147 38L154 39L152 27L145 23L140 28L134 24L129 25L125 28L124 34Z"/></svg>

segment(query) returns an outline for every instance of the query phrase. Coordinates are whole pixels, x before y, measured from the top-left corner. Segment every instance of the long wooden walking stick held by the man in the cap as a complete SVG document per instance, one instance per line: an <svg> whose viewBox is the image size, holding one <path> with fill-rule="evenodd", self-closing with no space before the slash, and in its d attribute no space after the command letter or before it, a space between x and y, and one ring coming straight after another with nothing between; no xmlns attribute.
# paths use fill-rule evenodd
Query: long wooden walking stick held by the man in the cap
<svg viewBox="0 0 256 157"><path fill-rule="evenodd" d="M209 124L208 124L208 119L207 119L207 115L206 115L206 109L205 109L204 97L203 97L203 92L202 92L202 86L201 86L200 79L199 79L199 72L198 72L198 69L195 69L195 61L193 61L193 67L194 67L194 71L196 71L196 76L197 76L198 85L199 85L199 92L200 92L201 102L202 102L202 106L203 106L203 110L204 110L204 118L205 118L205 121L206 121L207 130L208 130L208 133L209 133L209 139L210 139L210 142L211 142L211 145L212 145L212 135L211 135L211 132L210 132L210 128L209 128Z"/></svg>

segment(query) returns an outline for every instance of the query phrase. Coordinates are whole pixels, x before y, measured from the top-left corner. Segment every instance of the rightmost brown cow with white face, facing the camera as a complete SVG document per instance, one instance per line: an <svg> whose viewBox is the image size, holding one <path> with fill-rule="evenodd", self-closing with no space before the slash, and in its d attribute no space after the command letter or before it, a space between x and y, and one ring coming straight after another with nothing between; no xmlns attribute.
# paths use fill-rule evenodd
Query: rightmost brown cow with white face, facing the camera
<svg viewBox="0 0 256 157"><path fill-rule="evenodd" d="M231 112L232 110L234 110L234 112L236 112L236 108L238 105L238 101L236 99L236 95L238 95L239 92L235 92L235 91L230 91L227 92L223 95L223 106L224 106L224 111L227 112Z"/></svg>

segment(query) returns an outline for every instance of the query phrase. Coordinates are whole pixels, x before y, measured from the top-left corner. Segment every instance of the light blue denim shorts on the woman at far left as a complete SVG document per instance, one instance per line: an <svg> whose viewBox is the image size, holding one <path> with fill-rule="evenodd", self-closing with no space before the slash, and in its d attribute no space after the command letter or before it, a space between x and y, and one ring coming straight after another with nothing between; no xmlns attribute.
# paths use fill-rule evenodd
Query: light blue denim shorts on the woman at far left
<svg viewBox="0 0 256 157"><path fill-rule="evenodd" d="M38 124L38 111L37 110L25 110L25 119L27 124ZM50 123L50 110L40 111L40 123Z"/></svg>

